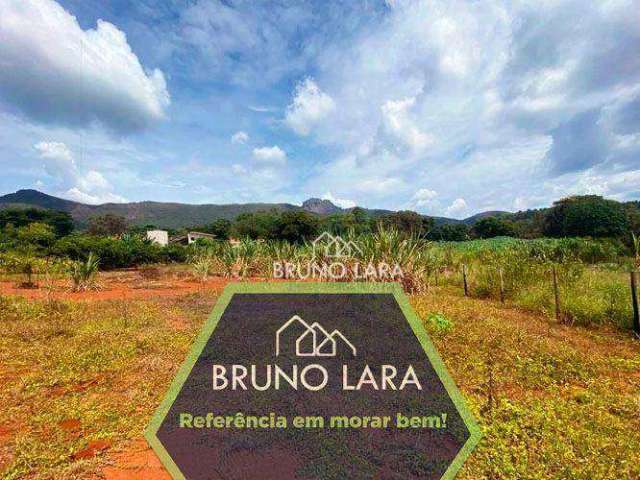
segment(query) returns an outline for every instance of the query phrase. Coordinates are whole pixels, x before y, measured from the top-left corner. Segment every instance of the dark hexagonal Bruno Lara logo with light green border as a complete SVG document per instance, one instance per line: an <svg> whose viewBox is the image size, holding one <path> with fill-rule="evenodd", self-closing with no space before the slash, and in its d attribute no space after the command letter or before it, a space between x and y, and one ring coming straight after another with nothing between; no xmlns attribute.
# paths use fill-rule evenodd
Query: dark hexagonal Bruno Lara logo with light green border
<svg viewBox="0 0 640 480"><path fill-rule="evenodd" d="M480 432L396 284L228 286L146 432L175 479L452 479Z"/></svg>

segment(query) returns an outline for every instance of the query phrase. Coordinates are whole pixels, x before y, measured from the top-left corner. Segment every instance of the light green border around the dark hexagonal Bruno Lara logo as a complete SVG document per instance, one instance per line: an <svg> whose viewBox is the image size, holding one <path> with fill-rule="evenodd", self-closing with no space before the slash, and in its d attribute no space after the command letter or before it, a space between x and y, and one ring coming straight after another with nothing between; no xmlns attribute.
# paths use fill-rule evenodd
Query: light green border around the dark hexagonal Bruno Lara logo
<svg viewBox="0 0 640 480"><path fill-rule="evenodd" d="M441 480L453 480L462 468L464 462L469 458L471 452L480 442L482 436L480 427L476 423L471 411L467 408L464 397L456 387L453 379L449 375L446 366L444 365L440 355L436 351L435 346L429 338L429 334L425 330L420 318L414 312L413 308L409 304L409 299L405 295L402 287L398 283L312 283L312 282L275 282L275 283L230 283L228 284L216 305L209 315L202 330L198 334L195 343L191 347L186 360L182 363L178 373L171 382L169 390L164 396L162 403L157 408L151 422L147 426L144 432L144 436L156 453L164 467L171 474L175 480L187 480L178 466L174 463L169 453L165 450L160 440L158 440L157 432L160 429L164 418L166 417L171 405L175 401L178 393L182 389L191 369L195 365L198 357L204 350L204 347L211 337L213 331L218 325L218 321L222 317L222 314L226 310L231 298L236 293L323 293L323 294L340 294L340 293L379 293L379 294L392 294L398 302L400 309L411 325L413 333L417 337L422 349L427 354L427 357L433 368L435 369L438 377L442 381L447 393L451 397L453 404L460 413L462 420L464 421L470 436L467 442L458 452L449 468L446 470Z"/></svg>

